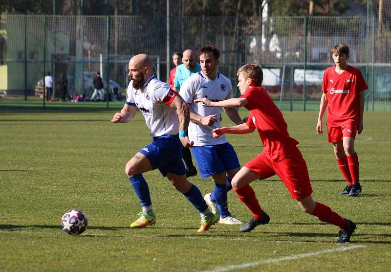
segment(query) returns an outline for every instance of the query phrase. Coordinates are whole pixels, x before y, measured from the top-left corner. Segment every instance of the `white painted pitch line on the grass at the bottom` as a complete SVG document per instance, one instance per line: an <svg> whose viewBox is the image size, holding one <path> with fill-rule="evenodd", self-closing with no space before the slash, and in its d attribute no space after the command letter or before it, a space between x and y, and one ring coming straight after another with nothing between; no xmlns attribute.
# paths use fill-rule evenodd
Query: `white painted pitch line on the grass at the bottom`
<svg viewBox="0 0 391 272"><path fill-rule="evenodd" d="M290 261L290 260L295 260L295 259L300 259L300 258L311 257L311 256L320 255L320 254L324 254L324 253L346 251L346 250L350 250L350 249L357 249L357 248L364 248L364 247L366 247L366 246L365 245L351 245L348 247L341 247L341 248L336 248L336 249L326 249L326 250L321 250L321 251L296 254L296 255L292 255L292 256L266 259L266 260L261 260L258 262L251 262L251 263L244 263L244 264L239 264L239 265L230 265L230 266L226 266L226 267L219 267L215 270L211 270L208 272L224 272L224 271L229 271L229 270L234 270L234 269L243 269L243 268L247 268L247 267L259 266L261 264L278 263L278 262L282 262L282 261Z"/></svg>

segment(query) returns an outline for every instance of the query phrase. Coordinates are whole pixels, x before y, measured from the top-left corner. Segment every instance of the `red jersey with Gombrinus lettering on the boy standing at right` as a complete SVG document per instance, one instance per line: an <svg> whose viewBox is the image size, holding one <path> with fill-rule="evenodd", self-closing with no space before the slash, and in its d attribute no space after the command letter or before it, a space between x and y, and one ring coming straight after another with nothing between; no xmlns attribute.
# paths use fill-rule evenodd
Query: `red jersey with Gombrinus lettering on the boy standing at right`
<svg viewBox="0 0 391 272"><path fill-rule="evenodd" d="M323 75L322 91L327 97L327 126L340 127L352 124L360 118L359 92L368 86L359 69L352 66L338 74L329 67Z"/></svg>

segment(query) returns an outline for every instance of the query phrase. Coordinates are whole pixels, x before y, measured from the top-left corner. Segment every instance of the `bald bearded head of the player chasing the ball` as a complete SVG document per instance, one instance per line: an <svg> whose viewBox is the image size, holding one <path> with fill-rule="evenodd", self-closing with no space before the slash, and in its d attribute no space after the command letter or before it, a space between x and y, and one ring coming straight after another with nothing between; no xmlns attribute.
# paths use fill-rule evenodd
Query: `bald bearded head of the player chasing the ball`
<svg viewBox="0 0 391 272"><path fill-rule="evenodd" d="M145 81L152 76L153 63L146 54L138 54L129 61L129 78L133 81L133 87L140 89Z"/></svg>

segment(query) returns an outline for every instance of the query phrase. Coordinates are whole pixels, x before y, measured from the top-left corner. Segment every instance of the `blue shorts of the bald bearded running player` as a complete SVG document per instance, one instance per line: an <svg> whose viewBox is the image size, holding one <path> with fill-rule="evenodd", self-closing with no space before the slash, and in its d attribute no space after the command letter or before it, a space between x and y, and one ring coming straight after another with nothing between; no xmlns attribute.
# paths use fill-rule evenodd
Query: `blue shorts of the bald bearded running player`
<svg viewBox="0 0 391 272"><path fill-rule="evenodd" d="M152 143L144 146L139 152L151 162L152 169L159 169L163 177L166 177L167 173L186 174L182 150L183 145L178 135L170 134L153 137Z"/></svg>

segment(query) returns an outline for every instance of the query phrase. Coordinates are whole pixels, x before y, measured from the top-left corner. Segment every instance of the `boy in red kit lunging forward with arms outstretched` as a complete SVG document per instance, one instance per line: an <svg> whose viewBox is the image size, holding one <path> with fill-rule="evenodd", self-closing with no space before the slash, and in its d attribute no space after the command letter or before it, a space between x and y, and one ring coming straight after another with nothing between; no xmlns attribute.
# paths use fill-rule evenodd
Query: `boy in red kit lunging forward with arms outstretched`
<svg viewBox="0 0 391 272"><path fill-rule="evenodd" d="M244 124L222 127L212 131L214 137L224 133L245 134L257 129L264 146L263 152L247 162L232 179L232 186L241 202L253 213L253 219L240 227L241 232L251 231L258 225L269 223L269 216L261 209L253 188L255 180L278 175L291 197L302 210L317 216L321 221L340 227L338 243L350 241L356 225L332 211L328 206L314 202L307 165L296 147L298 141L289 137L282 113L269 94L261 88L263 73L256 64L247 64L238 70L239 98L212 102L207 98L195 100L212 107L245 107L250 111Z"/></svg>

